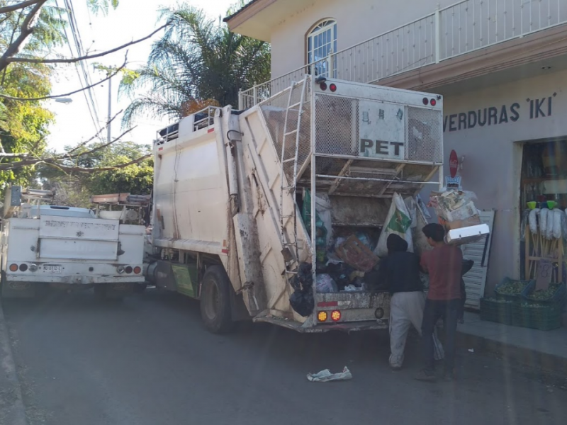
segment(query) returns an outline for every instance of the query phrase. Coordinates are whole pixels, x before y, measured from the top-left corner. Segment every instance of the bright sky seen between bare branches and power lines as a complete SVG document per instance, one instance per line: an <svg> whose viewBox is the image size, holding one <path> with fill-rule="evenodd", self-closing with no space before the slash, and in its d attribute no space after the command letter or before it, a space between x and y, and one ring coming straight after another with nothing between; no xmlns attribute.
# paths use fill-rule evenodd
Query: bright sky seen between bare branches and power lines
<svg viewBox="0 0 567 425"><path fill-rule="evenodd" d="M60 1L61 3L61 1ZM85 0L73 0L75 16L79 26L80 35L85 50L89 52L100 52L132 40L148 35L159 27L157 22L157 9L159 6L174 6L174 0L120 0L120 6L116 11L110 11L108 16L93 16L86 9ZM228 7L233 0L189 0L189 4L203 8L211 18L218 20L219 16L225 16ZM159 36L156 35L155 38ZM154 38L154 40L155 40ZM128 49L128 65L131 68L140 66L147 59L150 52L151 40L147 40ZM58 53L69 56L69 47L64 46ZM99 58L99 62L107 66L118 66L124 62L125 50ZM105 76L101 72L94 71L92 63L89 67L92 81L99 81ZM118 98L119 77L112 81L111 109L117 113L128 106L130 100L124 96ZM75 65L59 65L57 73L52 78L52 94L64 94L79 89L81 84L77 76ZM106 123L108 115L108 85L96 86L93 89L100 125ZM65 145L75 145L82 140L92 137L96 130L87 101L83 93L66 96L72 98L72 103L56 103L47 101L46 105L56 114L57 122L50 128L51 135L48 142L51 148L62 150ZM113 122L111 132L113 137L120 135L120 117ZM155 138L155 131L167 125L164 120L153 117L140 118L137 120L137 128L127 137L138 143L151 143ZM106 137L106 132L103 133Z"/></svg>

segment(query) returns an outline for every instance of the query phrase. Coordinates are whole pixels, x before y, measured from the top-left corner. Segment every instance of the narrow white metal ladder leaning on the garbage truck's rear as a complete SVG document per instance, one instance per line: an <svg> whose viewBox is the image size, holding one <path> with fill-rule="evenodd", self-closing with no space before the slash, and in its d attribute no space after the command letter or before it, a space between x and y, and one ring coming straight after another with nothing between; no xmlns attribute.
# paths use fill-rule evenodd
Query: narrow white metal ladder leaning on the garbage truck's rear
<svg viewBox="0 0 567 425"><path fill-rule="evenodd" d="M305 89L307 86L307 78L296 82L293 81L291 83L291 88L289 90L288 96L288 103L286 107L286 118L283 121L283 138L281 141L281 174L280 174L280 181L281 181L281 191L280 191L280 205L279 205L279 215L280 215L280 224L281 224L281 244L283 246L283 251L287 252L288 256L286 258L286 254L284 254L284 259L286 260L286 277L289 278L290 275L296 274L297 271L294 271L293 263L297 263L299 261L299 248L298 248L298 241L297 241L297 203L296 203L296 187L297 187L297 171L298 171L298 155L299 155L299 137L300 133L299 130L301 128L301 116L303 115L303 103L305 102ZM301 86L301 96L298 103L291 103L293 101L293 93L294 89L297 86ZM290 129L289 123L289 112L293 109L297 108L297 126L296 128ZM291 157L286 158L286 145L287 142L292 142L295 140L295 149L294 154ZM286 178L285 166L293 162L293 179L288 181ZM287 186L286 186L287 185ZM287 193L291 195L293 202L291 203L291 211L286 211L285 203L284 203L284 194ZM291 240L289 238L288 233L286 232L286 227L288 225L288 220L293 219L293 236ZM293 253L293 254L292 254Z"/></svg>

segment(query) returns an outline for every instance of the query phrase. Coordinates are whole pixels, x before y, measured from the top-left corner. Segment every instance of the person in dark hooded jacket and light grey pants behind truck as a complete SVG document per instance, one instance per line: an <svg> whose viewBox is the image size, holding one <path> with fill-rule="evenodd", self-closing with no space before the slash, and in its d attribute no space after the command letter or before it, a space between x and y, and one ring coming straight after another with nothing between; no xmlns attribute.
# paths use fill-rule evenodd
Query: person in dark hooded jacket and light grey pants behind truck
<svg viewBox="0 0 567 425"><path fill-rule="evenodd" d="M392 294L390 301L390 366L397 370L402 367L405 340L413 325L421 335L425 295L420 279L420 257L408 252L408 242L397 234L391 234L386 241L388 256L381 259L378 280L383 288ZM434 339L434 355L443 358L443 348Z"/></svg>

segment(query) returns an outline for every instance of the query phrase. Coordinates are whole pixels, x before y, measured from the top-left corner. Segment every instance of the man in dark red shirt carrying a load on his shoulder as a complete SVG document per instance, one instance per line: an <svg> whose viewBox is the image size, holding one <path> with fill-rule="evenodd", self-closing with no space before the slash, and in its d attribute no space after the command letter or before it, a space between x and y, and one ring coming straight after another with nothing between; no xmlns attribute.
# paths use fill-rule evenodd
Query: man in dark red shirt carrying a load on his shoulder
<svg viewBox="0 0 567 425"><path fill-rule="evenodd" d="M422 271L429 273L430 288L425 301L422 321L422 347L425 368L415 377L417 380L436 380L433 357L433 331L437 320L442 318L445 330L444 378L454 378L456 324L461 310L461 268L463 253L458 246L444 242L445 229L442 225L430 224L422 229L431 251L421 256Z"/></svg>

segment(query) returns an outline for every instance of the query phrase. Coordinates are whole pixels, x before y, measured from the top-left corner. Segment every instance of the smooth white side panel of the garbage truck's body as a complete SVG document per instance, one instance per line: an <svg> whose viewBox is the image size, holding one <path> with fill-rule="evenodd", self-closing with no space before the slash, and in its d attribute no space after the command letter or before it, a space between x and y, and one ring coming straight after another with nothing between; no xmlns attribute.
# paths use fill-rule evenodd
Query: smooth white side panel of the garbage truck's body
<svg viewBox="0 0 567 425"><path fill-rule="evenodd" d="M223 153L214 133L160 147L155 176L154 243L222 254L227 239ZM157 230L157 231L156 231Z"/></svg>

